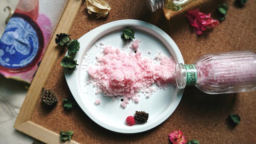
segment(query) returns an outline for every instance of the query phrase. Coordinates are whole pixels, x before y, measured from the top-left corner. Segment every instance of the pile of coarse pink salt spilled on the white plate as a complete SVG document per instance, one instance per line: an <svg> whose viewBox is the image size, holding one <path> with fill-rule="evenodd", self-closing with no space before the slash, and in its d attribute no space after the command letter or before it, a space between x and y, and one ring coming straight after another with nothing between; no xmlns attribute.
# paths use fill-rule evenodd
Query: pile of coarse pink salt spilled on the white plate
<svg viewBox="0 0 256 144"><path fill-rule="evenodd" d="M113 99L122 96L123 108L130 99L139 102L140 90L145 93L156 91L150 87L154 83L159 88L175 84L175 62L161 52L151 60L142 58L141 52L127 53L107 46L96 59L95 66L88 69L92 83L97 86L96 94L103 93Z"/></svg>

